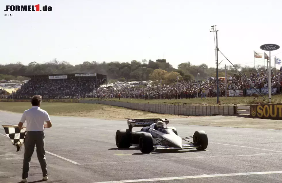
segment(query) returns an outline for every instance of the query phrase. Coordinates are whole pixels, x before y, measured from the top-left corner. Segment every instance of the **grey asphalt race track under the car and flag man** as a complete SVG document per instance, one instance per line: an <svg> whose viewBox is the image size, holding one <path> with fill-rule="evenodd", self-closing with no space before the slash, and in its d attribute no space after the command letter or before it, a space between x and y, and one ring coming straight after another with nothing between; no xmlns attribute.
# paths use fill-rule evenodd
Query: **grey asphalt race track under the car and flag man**
<svg viewBox="0 0 282 183"><path fill-rule="evenodd" d="M18 124L20 117L0 112L0 124ZM223 119L213 116L202 120L211 118ZM173 124L177 119L169 119L168 127L175 126L181 137L206 131L207 150L142 154L135 147L116 148L115 132L127 129L126 120L51 119L52 128L45 129L46 182L282 182L281 130L193 126ZM16 153L2 126L0 134L0 182L20 182L24 148ZM35 151L28 182L39 182L41 178Z"/></svg>

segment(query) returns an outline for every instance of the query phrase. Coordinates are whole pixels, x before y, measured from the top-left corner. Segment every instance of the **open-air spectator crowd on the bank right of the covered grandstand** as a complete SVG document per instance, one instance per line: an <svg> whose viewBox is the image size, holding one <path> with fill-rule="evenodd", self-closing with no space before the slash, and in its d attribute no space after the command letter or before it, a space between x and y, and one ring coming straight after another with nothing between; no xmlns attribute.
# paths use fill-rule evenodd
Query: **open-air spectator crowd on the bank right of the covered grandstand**
<svg viewBox="0 0 282 183"><path fill-rule="evenodd" d="M277 87L277 93L281 93L281 72L274 76L272 72L271 87ZM246 78L246 79L245 79ZM225 96L226 90L243 90L268 87L268 73L251 73L249 76L234 74L233 77L219 78L219 96ZM198 88L198 90L197 90ZM151 87L122 87L122 88L98 88L94 91L95 98L141 98L141 99L182 99L201 97L216 97L216 79L205 81L180 81L174 85L162 85Z"/></svg>

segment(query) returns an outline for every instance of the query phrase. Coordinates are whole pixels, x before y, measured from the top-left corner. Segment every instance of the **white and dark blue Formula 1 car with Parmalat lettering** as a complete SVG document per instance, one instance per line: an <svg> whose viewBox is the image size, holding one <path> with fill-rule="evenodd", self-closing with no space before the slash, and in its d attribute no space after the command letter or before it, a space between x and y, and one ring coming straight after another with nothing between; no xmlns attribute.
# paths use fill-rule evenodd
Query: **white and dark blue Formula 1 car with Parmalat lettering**
<svg viewBox="0 0 282 183"><path fill-rule="evenodd" d="M195 131L193 136L181 138L174 127L157 129L157 121L167 124L167 119L128 119L129 129L117 130L116 145L118 148L140 147L142 153L150 153L159 149L197 149L205 150L208 145L205 131ZM151 127L149 127L151 126ZM153 126L153 127L152 127ZM142 127L140 131L132 131L133 127ZM192 139L190 142L188 139ZM186 141L188 143L182 143Z"/></svg>

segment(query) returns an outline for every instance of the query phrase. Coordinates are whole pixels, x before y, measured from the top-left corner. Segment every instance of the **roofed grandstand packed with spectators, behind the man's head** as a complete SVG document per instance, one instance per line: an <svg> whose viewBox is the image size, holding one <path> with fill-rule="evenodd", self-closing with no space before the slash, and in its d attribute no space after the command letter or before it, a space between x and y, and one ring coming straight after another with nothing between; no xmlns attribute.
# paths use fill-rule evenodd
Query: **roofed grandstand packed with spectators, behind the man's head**
<svg viewBox="0 0 282 183"><path fill-rule="evenodd" d="M87 98L107 81L107 75L98 73L23 76L31 79L18 89L15 99L29 99L33 95L41 95L43 99Z"/></svg>

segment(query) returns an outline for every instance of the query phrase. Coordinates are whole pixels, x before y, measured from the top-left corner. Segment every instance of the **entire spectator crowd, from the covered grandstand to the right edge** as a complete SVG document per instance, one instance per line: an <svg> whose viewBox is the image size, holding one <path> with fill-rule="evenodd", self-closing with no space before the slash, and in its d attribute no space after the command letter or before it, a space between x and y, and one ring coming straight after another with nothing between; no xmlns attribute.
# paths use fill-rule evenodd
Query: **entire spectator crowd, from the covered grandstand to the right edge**
<svg viewBox="0 0 282 183"><path fill-rule="evenodd" d="M281 72L274 75L272 72L271 87L277 88L281 93ZM246 78L246 79L245 79ZM67 79L34 78L22 85L16 93L0 98L29 99L33 95L41 95L44 99L61 98L141 98L141 99L182 99L196 98L204 93L206 97L216 97L216 80L214 78L205 81L180 81L172 85L158 86L123 86L123 87L99 87L106 80L95 77L70 77ZM219 95L225 96L226 90L243 90L268 87L268 72L234 74L232 77L219 79Z"/></svg>

